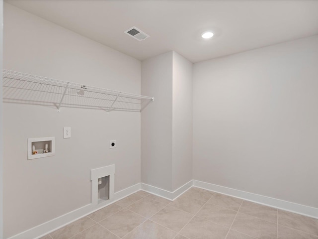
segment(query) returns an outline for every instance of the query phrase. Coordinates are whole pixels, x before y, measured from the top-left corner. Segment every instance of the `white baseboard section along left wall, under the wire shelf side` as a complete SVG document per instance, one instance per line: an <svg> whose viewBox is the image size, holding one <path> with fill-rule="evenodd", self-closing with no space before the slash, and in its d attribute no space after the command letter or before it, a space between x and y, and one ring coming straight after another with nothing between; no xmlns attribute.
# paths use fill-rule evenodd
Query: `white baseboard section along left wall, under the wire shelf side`
<svg viewBox="0 0 318 239"><path fill-rule="evenodd" d="M93 204L87 204L79 209L76 209L72 212L69 212L67 214L64 214L60 217L57 217L55 219L52 219L46 223L43 223L41 225L38 225L34 228L31 228L27 231L24 231L22 233L19 233L13 237L10 237L8 239L38 239L41 238L51 232L54 232L60 228L65 227L66 225L75 222L76 220L85 217L101 208L104 208L118 200L121 200L124 197L127 197L141 189L141 184L135 184L131 187L125 188L119 192L116 192L114 194L114 198L107 200L104 203L98 204L94 206Z"/></svg>

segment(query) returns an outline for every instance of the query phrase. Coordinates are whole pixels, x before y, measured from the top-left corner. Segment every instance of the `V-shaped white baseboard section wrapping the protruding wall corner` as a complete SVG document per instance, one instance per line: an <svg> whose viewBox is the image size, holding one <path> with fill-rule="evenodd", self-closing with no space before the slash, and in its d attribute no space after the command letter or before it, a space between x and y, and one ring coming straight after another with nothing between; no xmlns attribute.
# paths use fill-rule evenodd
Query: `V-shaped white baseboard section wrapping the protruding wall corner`
<svg viewBox="0 0 318 239"><path fill-rule="evenodd" d="M168 200L175 200L177 197L179 197L181 194L183 194L185 191L187 191L189 188L191 188L193 186L192 183L193 180L190 180L189 182L187 182L186 184L182 185L181 187L179 187L178 189L174 190L173 192L161 189L161 188L157 188L155 186L149 185L149 184L145 184L145 183L141 183L141 189L144 190L145 192L151 193L151 194L155 194L161 198L165 198Z"/></svg>

